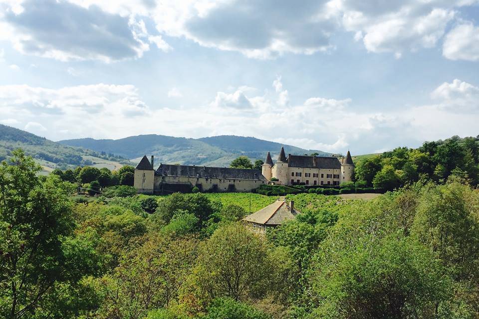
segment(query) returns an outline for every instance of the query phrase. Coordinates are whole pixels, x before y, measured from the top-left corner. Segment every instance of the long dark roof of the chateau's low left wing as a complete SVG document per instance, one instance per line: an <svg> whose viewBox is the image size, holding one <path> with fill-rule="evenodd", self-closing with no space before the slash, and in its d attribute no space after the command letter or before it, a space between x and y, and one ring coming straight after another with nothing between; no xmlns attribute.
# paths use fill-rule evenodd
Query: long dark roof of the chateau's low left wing
<svg viewBox="0 0 479 319"><path fill-rule="evenodd" d="M161 164L156 175L266 180L257 169Z"/></svg>

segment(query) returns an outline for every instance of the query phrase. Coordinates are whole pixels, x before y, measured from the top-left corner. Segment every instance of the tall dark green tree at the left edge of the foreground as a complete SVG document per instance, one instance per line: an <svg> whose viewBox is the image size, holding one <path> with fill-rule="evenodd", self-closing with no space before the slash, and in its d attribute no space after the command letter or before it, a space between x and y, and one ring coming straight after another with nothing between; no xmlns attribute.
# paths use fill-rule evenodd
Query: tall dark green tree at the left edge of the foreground
<svg viewBox="0 0 479 319"><path fill-rule="evenodd" d="M94 271L71 245L74 227L68 196L71 184L56 175L44 182L40 166L20 150L0 165L0 317L35 312L60 285Z"/></svg>

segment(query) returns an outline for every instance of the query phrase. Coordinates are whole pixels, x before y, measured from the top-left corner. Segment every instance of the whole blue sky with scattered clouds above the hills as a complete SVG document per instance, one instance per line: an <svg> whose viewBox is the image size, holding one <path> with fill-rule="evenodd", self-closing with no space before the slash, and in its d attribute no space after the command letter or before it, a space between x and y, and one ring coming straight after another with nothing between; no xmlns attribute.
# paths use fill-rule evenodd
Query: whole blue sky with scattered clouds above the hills
<svg viewBox="0 0 479 319"><path fill-rule="evenodd" d="M0 0L0 123L368 154L479 135L479 0Z"/></svg>

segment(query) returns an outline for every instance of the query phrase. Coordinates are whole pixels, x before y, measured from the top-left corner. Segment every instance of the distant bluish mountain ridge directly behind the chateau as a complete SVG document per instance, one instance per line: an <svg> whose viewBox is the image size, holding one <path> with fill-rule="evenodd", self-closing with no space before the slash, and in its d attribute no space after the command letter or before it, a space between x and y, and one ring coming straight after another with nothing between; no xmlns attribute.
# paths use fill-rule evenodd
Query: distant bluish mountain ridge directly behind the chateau
<svg viewBox="0 0 479 319"><path fill-rule="evenodd" d="M251 160L264 160L267 152L273 159L277 157L281 146L286 154L311 154L329 156L330 153L305 150L290 145L256 139L222 135L200 139L176 138L164 135L138 135L118 140L95 140L91 138L64 140L58 143L82 147L96 152L106 152L138 160L143 155L154 155L155 166L160 162L186 165L229 166L231 161L244 155Z"/></svg>

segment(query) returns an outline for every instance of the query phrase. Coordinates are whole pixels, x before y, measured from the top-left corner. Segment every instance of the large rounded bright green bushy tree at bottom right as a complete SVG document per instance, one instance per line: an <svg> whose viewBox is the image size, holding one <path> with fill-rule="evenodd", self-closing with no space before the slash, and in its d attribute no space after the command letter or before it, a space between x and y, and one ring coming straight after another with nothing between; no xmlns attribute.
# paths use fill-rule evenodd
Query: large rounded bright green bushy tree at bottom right
<svg viewBox="0 0 479 319"><path fill-rule="evenodd" d="M320 306L314 318L439 318L435 305L449 300L450 280L430 250L395 237L325 247L333 255L322 252L315 267L313 293Z"/></svg>

